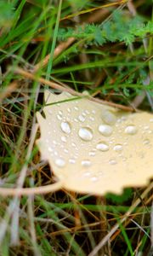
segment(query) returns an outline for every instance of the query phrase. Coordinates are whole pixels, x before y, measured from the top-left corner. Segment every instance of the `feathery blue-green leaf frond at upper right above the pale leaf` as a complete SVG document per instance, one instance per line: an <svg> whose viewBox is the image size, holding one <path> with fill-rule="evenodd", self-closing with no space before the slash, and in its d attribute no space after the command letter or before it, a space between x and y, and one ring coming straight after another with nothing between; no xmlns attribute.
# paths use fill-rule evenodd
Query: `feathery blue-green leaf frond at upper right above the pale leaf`
<svg viewBox="0 0 153 256"><path fill-rule="evenodd" d="M146 23L136 16L127 20L122 12L116 11L112 19L102 25L86 24L78 26L76 30L71 27L59 29L59 40L74 37L86 39L88 44L102 45L107 42L125 42L131 44L136 38L144 38L153 34L153 20Z"/></svg>

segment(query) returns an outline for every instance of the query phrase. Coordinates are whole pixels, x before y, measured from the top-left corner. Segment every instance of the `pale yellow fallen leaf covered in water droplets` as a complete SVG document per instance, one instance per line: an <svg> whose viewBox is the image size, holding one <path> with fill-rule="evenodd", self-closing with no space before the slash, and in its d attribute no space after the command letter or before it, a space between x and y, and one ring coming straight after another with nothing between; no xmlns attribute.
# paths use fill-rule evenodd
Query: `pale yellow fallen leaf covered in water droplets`
<svg viewBox="0 0 153 256"><path fill-rule="evenodd" d="M125 113L63 92L45 91L37 113L42 160L62 188L104 195L144 186L153 176L153 115ZM54 104L53 104L54 103Z"/></svg>

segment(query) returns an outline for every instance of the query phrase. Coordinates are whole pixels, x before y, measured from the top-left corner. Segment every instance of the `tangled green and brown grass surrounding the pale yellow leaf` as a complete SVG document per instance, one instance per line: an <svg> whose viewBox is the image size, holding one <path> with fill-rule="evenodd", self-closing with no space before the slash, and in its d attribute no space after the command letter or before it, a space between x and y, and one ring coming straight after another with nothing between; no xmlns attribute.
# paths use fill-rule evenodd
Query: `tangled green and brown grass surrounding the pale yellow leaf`
<svg viewBox="0 0 153 256"><path fill-rule="evenodd" d="M44 88L153 109L151 0L1 0L0 8L1 185L53 182L35 145ZM151 190L1 196L0 255L147 255Z"/></svg>

